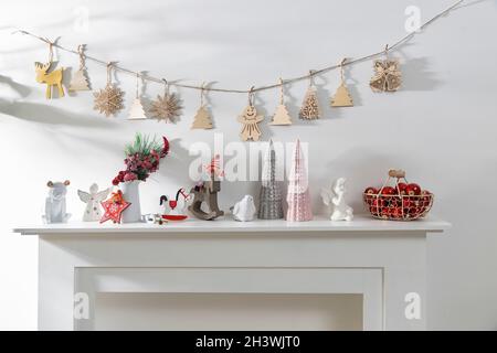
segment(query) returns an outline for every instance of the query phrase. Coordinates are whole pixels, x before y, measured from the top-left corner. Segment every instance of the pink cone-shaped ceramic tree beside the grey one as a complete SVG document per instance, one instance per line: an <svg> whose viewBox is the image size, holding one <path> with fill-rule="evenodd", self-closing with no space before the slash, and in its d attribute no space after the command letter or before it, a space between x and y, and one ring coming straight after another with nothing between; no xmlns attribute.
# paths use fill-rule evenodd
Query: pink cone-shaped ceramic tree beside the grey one
<svg viewBox="0 0 497 353"><path fill-rule="evenodd" d="M294 160L288 175L288 191L286 194L288 211L286 220L303 222L313 220L310 210L309 184L304 156L300 149L300 140L297 140L294 151Z"/></svg>

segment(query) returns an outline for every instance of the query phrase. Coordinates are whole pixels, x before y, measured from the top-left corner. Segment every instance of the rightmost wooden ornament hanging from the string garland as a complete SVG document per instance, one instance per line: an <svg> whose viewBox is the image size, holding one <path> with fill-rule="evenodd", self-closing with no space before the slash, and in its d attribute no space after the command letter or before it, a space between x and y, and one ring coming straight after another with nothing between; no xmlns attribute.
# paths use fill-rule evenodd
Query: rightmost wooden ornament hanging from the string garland
<svg viewBox="0 0 497 353"><path fill-rule="evenodd" d="M389 45L384 47L385 60L374 61L374 76L369 82L373 92L395 92L402 85L398 60L389 58Z"/></svg>

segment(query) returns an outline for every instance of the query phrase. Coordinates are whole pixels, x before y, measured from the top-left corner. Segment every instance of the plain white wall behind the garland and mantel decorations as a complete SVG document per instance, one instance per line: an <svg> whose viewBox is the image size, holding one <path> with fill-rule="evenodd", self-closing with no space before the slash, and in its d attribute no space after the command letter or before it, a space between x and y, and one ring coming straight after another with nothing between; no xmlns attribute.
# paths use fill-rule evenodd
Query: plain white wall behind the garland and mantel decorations
<svg viewBox="0 0 497 353"><path fill-rule="evenodd" d="M70 210L83 211L76 189L107 183L121 168L121 149L135 131L168 136L173 153L142 188L144 211L155 211L157 196L189 185L188 147L212 143L213 132L239 140L236 116L246 96L210 95L214 131L189 129L198 108L198 92L180 92L186 109L178 125L106 119L93 110L89 93L44 99L34 82L34 61L46 46L29 36L11 35L12 26L76 47L156 76L246 89L305 74L383 49L405 35L404 10L421 8L426 20L453 1L3 1L0 11L0 182L3 186L0 235L0 329L35 329L36 239L10 232L20 223L38 222L47 180L71 179ZM309 145L311 194L320 210L319 188L345 175L350 197L361 210L360 191L383 180L390 167L436 194L433 213L454 224L429 242L431 329L497 329L497 173L496 88L497 31L495 1L473 1L431 25L394 53L402 61L404 87L387 95L368 86L371 63L355 65L349 86L356 107L329 109L338 72L317 83L325 109L322 120L269 128L278 141L299 137ZM87 32L75 31L78 7L89 10ZM388 11L385 11L388 10ZM392 54L393 55L393 54ZM65 67L77 57L59 52ZM93 87L105 85L105 68L88 62ZM127 104L135 78L118 74ZM295 116L307 83L295 84L287 101ZM162 87L149 84L154 97ZM271 115L277 90L257 96L261 111ZM256 183L223 184L228 207Z"/></svg>

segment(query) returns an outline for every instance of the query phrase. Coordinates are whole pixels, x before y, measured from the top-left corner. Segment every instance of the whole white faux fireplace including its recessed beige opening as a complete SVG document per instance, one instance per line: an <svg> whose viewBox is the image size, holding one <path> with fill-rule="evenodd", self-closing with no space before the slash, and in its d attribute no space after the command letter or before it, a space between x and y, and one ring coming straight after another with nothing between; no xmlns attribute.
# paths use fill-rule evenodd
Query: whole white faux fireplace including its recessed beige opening
<svg viewBox="0 0 497 353"><path fill-rule="evenodd" d="M274 320L266 322L275 325L296 319L288 330L355 329L358 320L363 330L423 330L426 237L448 227L433 218L358 216L302 223L188 220L163 226L68 223L15 232L39 236L40 330L183 330L194 314L215 320L191 329L261 329L257 314L242 321L233 314L250 306L273 308ZM348 313L337 306L340 300ZM123 324L126 313L116 306L133 310L139 302L147 306L137 304L133 318L145 323ZM197 312L181 311L192 307ZM154 310L171 320L158 321ZM326 318L347 319L338 320L340 325Z"/></svg>

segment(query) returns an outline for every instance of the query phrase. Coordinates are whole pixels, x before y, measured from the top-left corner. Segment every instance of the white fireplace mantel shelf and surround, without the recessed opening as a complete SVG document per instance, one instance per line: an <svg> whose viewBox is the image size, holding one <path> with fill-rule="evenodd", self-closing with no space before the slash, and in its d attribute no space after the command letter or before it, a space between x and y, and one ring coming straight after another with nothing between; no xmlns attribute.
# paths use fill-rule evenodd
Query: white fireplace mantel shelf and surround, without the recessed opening
<svg viewBox="0 0 497 353"><path fill-rule="evenodd" d="M450 226L434 218L358 216L352 222L67 223L14 232L39 236L41 330L95 329L98 293L137 292L358 293L364 330L423 330L426 236ZM89 299L87 319L73 314L75 293L82 292ZM409 293L420 298L419 318L405 315Z"/></svg>

